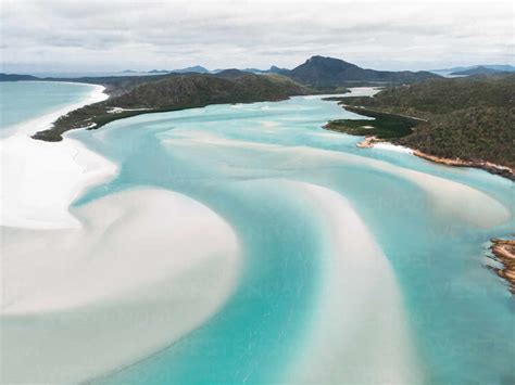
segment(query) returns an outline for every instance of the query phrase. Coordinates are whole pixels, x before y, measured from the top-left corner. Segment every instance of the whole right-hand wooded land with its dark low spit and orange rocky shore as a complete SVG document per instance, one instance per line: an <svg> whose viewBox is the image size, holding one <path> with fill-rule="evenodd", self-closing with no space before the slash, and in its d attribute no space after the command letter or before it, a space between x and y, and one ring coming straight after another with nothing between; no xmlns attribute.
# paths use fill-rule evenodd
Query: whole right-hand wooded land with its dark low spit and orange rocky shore
<svg viewBox="0 0 515 385"><path fill-rule="evenodd" d="M339 101L349 111L377 118L334 120L328 129L388 140L432 162L479 167L515 180L515 74L435 79Z"/></svg>

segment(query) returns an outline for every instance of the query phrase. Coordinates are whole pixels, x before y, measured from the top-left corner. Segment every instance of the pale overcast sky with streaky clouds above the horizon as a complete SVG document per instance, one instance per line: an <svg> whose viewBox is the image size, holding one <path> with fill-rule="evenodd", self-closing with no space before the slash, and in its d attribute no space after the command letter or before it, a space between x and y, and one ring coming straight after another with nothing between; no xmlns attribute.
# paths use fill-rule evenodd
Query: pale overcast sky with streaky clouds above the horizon
<svg viewBox="0 0 515 385"><path fill-rule="evenodd" d="M1 70L515 64L511 1L0 0Z"/></svg>

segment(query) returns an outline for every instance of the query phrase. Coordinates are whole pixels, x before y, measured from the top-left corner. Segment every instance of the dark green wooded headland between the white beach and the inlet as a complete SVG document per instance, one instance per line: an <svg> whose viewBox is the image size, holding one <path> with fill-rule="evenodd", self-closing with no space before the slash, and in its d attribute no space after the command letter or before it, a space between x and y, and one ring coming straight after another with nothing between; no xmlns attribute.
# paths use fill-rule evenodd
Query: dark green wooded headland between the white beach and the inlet
<svg viewBox="0 0 515 385"><path fill-rule="evenodd" d="M158 76L153 76L158 78ZM201 107L219 103L278 101L312 92L281 75L255 75L227 69L218 75L171 74L160 80L134 85L128 91L106 101L86 105L60 117L49 130L33 136L45 141L60 141L61 134L95 124L155 112ZM122 108L122 110L120 110ZM113 111L118 111L113 113Z"/></svg>

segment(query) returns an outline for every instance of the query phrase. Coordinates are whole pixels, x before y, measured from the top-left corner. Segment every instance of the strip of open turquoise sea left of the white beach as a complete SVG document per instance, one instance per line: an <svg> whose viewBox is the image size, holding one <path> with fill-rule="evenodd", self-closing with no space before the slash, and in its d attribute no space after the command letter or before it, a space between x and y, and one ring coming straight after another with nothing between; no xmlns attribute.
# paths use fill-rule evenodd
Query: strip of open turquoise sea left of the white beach
<svg viewBox="0 0 515 385"><path fill-rule="evenodd" d="M83 101L91 86L50 81L0 82L0 136L17 124Z"/></svg>

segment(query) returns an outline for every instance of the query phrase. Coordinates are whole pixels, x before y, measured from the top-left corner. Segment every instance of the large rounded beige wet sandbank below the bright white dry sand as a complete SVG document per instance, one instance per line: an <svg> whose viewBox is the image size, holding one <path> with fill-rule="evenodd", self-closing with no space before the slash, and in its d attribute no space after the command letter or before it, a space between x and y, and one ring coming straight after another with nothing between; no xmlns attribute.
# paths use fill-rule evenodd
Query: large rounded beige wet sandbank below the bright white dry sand
<svg viewBox="0 0 515 385"><path fill-rule="evenodd" d="M130 364L205 322L236 285L236 235L187 196L133 190L74 214L84 227L4 231L3 383Z"/></svg>

